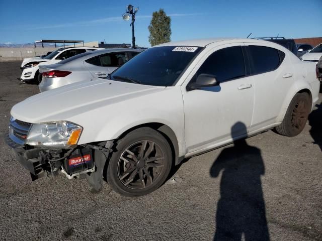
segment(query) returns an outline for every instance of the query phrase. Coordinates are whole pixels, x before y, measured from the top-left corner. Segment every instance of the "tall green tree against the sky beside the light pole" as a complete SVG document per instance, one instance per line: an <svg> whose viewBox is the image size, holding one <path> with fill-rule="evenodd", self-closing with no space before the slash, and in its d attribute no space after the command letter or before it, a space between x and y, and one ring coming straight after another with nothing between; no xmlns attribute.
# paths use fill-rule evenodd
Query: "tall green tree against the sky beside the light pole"
<svg viewBox="0 0 322 241"><path fill-rule="evenodd" d="M151 46L171 41L171 18L167 16L163 9L153 12L148 29Z"/></svg>

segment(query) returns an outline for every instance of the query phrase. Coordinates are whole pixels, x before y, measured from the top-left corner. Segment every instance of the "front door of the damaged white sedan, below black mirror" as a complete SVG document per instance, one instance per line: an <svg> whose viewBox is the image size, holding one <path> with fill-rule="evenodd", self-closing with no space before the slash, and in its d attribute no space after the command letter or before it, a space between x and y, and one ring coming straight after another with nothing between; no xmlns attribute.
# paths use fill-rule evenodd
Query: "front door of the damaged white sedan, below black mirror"
<svg viewBox="0 0 322 241"><path fill-rule="evenodd" d="M215 75L220 84L190 91L182 87L187 153L246 136L252 123L254 82L241 44L221 45L209 51L189 75L190 83L200 74ZM239 125L232 133L238 122L246 128Z"/></svg>

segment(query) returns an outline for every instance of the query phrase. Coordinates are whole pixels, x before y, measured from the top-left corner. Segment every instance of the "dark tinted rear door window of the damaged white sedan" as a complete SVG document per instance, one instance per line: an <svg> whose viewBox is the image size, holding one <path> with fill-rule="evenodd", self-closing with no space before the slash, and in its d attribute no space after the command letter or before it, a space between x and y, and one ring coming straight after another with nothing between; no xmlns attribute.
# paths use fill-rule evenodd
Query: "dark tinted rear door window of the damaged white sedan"
<svg viewBox="0 0 322 241"><path fill-rule="evenodd" d="M274 48L265 46L248 46L251 57L253 75L273 71L283 61L285 54Z"/></svg>

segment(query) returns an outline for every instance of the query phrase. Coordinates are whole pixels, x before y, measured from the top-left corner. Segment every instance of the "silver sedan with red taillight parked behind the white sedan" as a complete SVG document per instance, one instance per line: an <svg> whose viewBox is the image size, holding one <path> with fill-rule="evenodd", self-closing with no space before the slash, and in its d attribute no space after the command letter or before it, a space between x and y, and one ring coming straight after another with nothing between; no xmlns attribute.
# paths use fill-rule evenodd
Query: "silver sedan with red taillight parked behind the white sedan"
<svg viewBox="0 0 322 241"><path fill-rule="evenodd" d="M39 68L42 81L40 92L58 88L93 77L104 78L129 61L143 49L104 49L70 57L56 64Z"/></svg>

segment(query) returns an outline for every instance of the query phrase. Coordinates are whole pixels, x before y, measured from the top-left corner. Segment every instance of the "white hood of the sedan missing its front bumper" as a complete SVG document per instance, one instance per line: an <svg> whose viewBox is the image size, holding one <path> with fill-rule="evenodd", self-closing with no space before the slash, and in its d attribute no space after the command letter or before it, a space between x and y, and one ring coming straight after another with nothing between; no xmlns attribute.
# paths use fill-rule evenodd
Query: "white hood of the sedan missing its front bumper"
<svg viewBox="0 0 322 241"><path fill-rule="evenodd" d="M31 96L14 105L11 115L28 123L70 121L76 115L91 118L87 111L121 101L130 106L133 98L165 88L96 78Z"/></svg>

